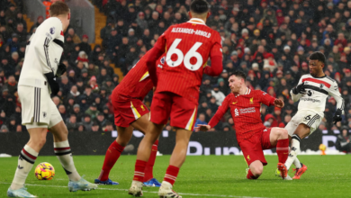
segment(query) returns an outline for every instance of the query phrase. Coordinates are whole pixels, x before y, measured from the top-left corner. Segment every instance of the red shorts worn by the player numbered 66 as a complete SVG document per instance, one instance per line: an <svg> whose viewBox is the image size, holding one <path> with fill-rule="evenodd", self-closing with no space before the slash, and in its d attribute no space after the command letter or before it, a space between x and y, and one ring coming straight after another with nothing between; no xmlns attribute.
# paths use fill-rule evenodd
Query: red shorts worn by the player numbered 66
<svg viewBox="0 0 351 198"><path fill-rule="evenodd" d="M197 103L171 92L154 94L151 103L150 121L166 124L171 118L171 126L192 130L196 121Z"/></svg>

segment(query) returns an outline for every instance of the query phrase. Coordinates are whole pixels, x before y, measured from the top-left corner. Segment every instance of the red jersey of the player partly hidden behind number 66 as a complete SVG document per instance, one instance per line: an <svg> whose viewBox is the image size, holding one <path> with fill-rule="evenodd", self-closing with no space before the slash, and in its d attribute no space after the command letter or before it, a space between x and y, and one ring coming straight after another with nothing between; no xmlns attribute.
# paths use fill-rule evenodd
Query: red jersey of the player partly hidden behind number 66
<svg viewBox="0 0 351 198"><path fill-rule="evenodd" d="M148 52L139 59L137 64L130 69L128 74L123 77L121 84L117 85L113 94L123 94L133 98L138 98L141 101L154 86L148 75L148 67L146 66L146 60L148 59ZM157 71L161 70L163 63L165 62L165 56L162 55L157 60Z"/></svg>

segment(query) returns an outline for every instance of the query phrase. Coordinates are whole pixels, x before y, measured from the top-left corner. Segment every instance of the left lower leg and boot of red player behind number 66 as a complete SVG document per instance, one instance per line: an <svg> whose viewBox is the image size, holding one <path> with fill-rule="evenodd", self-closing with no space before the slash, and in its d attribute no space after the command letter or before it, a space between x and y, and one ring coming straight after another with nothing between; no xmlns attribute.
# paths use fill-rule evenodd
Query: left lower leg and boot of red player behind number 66
<svg viewBox="0 0 351 198"><path fill-rule="evenodd" d="M109 178L110 171L119 157L121 157L121 152L123 152L125 146L131 139L133 134L133 128L129 127L119 127L117 126L118 136L117 139L112 142L109 148L107 148L104 160L103 168L97 179L94 180L95 184L118 184L117 182L112 182Z"/></svg>

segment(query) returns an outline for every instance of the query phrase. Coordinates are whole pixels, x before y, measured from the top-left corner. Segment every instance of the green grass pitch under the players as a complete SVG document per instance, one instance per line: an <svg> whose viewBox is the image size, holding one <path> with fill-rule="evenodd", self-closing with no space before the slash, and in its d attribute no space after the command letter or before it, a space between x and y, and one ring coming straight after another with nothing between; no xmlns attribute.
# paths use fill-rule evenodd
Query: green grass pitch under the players
<svg viewBox="0 0 351 198"><path fill-rule="evenodd" d="M157 157L154 176L162 181L170 156ZM350 197L351 155L300 156L308 166L301 180L283 181L275 176L276 156L267 156L268 165L257 180L247 180L242 156L190 156L186 158L175 182L175 192L183 197ZM38 157L27 178L28 191L40 197L131 197L127 194L134 171L135 156L121 156L110 178L119 185L99 185L91 192L69 193L67 175L56 157ZM93 182L100 174L103 156L74 156L76 168ZM34 167L49 162L56 175L39 181ZM0 197L5 197L17 166L17 157L0 158ZM289 175L293 177L293 171ZM158 188L143 187L144 197L157 197Z"/></svg>

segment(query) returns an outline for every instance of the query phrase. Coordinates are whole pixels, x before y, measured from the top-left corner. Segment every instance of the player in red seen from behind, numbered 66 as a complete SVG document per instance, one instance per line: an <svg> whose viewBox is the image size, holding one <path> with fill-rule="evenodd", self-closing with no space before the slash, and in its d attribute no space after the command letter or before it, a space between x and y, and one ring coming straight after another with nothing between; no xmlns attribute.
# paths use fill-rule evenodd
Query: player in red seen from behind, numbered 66
<svg viewBox="0 0 351 198"><path fill-rule="evenodd" d="M159 188L160 197L181 197L172 188L183 165L193 123L196 119L202 74L218 76L222 71L220 34L206 26L209 4L194 0L190 4L191 19L187 23L172 25L157 40L148 56L148 72L157 86L150 111L150 125L138 149L133 182L129 193L142 195L144 180L153 142L161 133L170 117L170 125L176 129L175 148L164 181ZM157 76L157 58L166 53L165 66ZM211 58L211 67L206 61Z"/></svg>

